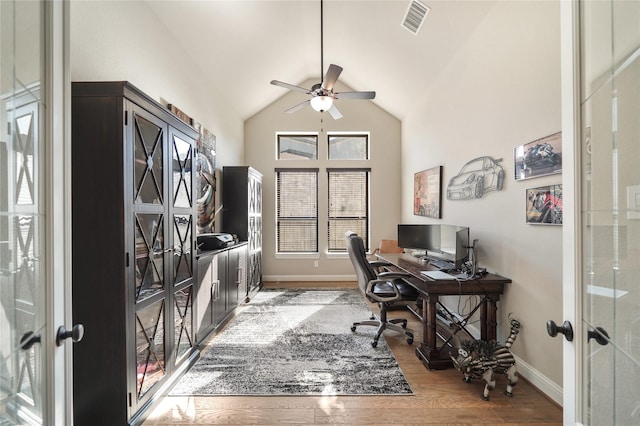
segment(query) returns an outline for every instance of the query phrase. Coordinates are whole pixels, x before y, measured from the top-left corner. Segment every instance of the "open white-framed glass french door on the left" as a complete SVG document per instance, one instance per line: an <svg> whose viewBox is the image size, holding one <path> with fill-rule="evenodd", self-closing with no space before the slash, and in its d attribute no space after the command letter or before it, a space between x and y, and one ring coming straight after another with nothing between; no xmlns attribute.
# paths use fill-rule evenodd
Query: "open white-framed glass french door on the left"
<svg viewBox="0 0 640 426"><path fill-rule="evenodd" d="M0 424L70 424L66 2L0 1ZM70 305L69 305L70 306ZM61 335L61 337L63 337Z"/></svg>

